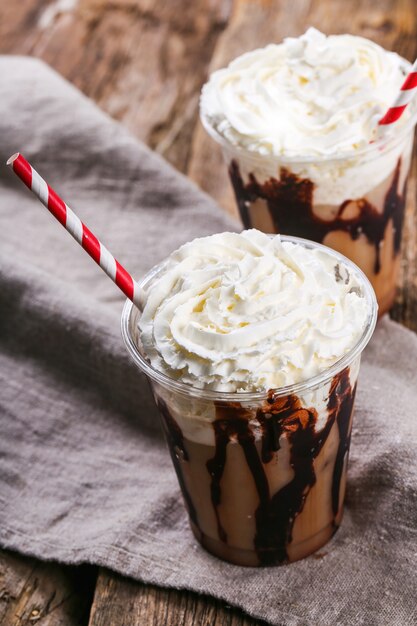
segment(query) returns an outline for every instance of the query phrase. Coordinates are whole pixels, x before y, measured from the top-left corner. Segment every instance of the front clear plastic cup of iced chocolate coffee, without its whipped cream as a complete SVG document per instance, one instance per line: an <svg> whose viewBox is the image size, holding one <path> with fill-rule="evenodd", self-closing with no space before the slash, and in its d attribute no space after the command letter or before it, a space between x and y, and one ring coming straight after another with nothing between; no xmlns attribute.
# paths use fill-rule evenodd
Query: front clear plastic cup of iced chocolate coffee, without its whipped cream
<svg viewBox="0 0 417 626"><path fill-rule="evenodd" d="M282 239L327 252L356 276L369 303L357 344L314 378L259 393L197 389L154 369L141 349L140 311L127 301L122 314L123 339L150 382L191 529L209 552L238 565L296 561L338 529L360 358L377 318L374 291L353 263L320 244Z"/></svg>

